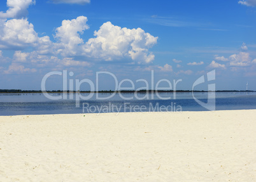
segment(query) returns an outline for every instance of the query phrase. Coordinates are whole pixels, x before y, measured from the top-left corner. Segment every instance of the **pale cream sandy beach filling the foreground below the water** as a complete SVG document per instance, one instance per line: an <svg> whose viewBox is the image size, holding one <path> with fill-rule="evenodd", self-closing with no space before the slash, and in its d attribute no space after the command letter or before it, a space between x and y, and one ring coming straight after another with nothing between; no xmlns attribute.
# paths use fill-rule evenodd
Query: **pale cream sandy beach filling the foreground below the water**
<svg viewBox="0 0 256 182"><path fill-rule="evenodd" d="M0 181L256 181L256 110L0 117Z"/></svg>

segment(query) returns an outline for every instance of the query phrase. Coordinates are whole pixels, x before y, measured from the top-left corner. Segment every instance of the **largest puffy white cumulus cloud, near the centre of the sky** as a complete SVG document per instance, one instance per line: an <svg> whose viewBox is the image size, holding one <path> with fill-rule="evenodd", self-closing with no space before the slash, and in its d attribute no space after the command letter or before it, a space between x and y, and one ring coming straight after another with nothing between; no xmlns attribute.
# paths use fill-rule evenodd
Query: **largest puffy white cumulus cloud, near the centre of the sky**
<svg viewBox="0 0 256 182"><path fill-rule="evenodd" d="M155 55L148 49L157 43L158 37L153 37L144 30L127 29L104 23L95 38L85 43L84 53L92 58L111 61L113 59L131 58L138 62L150 63Z"/></svg>

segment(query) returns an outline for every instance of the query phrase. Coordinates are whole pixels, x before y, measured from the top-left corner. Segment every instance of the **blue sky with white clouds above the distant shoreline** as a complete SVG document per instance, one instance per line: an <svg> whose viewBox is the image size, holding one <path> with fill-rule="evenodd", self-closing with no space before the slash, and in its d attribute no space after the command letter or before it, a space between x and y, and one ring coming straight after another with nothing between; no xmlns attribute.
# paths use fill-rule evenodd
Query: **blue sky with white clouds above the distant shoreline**
<svg viewBox="0 0 256 182"><path fill-rule="evenodd" d="M87 79L95 87L80 90L113 90L116 77L127 89L164 79L191 90L215 70L216 89L256 91L255 25L256 0L0 1L0 89L39 90L66 70L68 89ZM62 90L62 79L46 89Z"/></svg>

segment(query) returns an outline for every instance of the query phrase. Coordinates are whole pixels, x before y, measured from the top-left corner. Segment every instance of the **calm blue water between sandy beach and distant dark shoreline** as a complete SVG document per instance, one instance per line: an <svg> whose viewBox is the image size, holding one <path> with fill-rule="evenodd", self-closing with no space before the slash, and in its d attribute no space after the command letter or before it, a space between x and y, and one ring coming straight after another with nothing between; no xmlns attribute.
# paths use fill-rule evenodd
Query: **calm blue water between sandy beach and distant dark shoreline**
<svg viewBox="0 0 256 182"><path fill-rule="evenodd" d="M51 95L61 96L62 99L50 100L43 94L0 94L0 115L208 110L194 100L192 93L159 94L162 98L170 97L168 100L160 99L157 94L149 94L148 97L146 94L138 94L137 98L134 94L115 94L107 100L97 99L96 94L87 100L80 97L86 97L89 94ZM98 94L100 98L110 96L111 94ZM208 102L208 93L194 93L194 97L204 103ZM76 102L75 98L80 98L80 102ZM215 101L216 110L256 109L256 93L216 93ZM78 103L80 107L76 107Z"/></svg>

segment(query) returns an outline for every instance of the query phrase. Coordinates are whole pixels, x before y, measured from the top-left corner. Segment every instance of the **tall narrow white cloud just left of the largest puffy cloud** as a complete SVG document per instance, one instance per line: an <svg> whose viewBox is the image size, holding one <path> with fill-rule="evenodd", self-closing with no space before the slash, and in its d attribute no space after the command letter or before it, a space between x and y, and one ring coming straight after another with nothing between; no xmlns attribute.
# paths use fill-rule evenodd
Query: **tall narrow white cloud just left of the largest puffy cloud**
<svg viewBox="0 0 256 182"><path fill-rule="evenodd" d="M62 25L56 29L55 38L59 41L58 52L62 52L62 55L76 55L82 52L83 39L80 34L83 31L89 29L87 25L87 17L78 16L73 20L63 20Z"/></svg>

